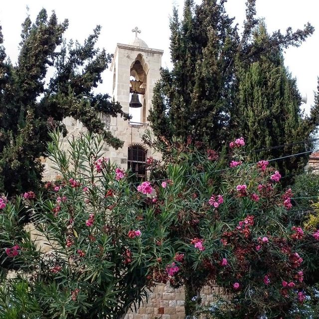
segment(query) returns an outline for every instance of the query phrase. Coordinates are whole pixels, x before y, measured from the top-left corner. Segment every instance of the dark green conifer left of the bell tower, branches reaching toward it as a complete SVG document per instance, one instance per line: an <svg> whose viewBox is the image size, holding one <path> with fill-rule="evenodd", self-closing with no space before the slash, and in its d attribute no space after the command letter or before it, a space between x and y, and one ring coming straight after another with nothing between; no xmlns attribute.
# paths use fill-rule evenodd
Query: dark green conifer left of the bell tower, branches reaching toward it
<svg viewBox="0 0 319 319"><path fill-rule="evenodd" d="M67 44L68 21L57 21L42 9L35 22L22 24L16 65L6 59L0 32L0 193L14 195L40 185L48 132L72 116L89 129L103 133L115 148L122 142L106 131L99 112L128 118L108 94L95 94L111 55L95 47L100 26L84 42ZM1 30L0 30L1 31ZM55 73L46 85L47 69Z"/></svg>

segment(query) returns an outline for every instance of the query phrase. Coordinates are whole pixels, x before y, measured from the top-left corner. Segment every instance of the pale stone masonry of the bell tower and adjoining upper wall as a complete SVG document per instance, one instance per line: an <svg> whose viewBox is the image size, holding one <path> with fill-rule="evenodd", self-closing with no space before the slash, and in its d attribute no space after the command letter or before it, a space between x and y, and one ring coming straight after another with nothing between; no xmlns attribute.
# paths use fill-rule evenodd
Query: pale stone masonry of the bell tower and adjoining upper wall
<svg viewBox="0 0 319 319"><path fill-rule="evenodd" d="M128 168L128 150L132 145L143 147L142 136L148 129L149 124L147 118L151 108L153 89L156 82L160 79L160 66L162 50L152 49L147 47L147 44L140 38L136 37L132 44L117 44L114 58L111 64L113 72L113 89L112 97L123 107L123 111L131 113L129 108L130 102L130 79L135 79L143 82L141 88L145 90L144 95L140 96L142 103L140 121L130 122L125 121L121 117L110 118L102 116L101 120L105 123L112 134L124 141L124 146L121 149L115 150L112 147L105 145L105 157L108 157L111 162L116 163L125 169ZM85 132L83 124L72 118L63 120L64 125L68 130L68 136L77 136L80 132ZM62 142L64 149L67 149L67 140ZM155 159L160 159L159 154L154 150L147 149L147 156L153 156ZM42 160L45 165L44 179L53 180L58 175L53 168L49 159Z"/></svg>

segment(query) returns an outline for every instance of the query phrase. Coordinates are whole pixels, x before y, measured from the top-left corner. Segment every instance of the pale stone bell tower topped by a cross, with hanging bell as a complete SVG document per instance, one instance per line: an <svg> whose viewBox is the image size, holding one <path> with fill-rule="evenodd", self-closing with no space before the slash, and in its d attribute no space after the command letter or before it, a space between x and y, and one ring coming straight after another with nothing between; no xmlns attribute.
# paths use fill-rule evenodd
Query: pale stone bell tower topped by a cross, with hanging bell
<svg viewBox="0 0 319 319"><path fill-rule="evenodd" d="M111 118L110 130L124 141L124 146L119 150L111 148L110 160L124 168L131 168L137 175L143 175L142 162L145 157L152 156L152 150L145 149L142 136L149 126L147 118L152 106L153 89L160 79L163 51L149 48L138 37L141 33L138 27L132 29L132 32L135 37L131 44L117 44L111 72L112 97L133 118L130 121L124 121L121 117Z"/></svg>

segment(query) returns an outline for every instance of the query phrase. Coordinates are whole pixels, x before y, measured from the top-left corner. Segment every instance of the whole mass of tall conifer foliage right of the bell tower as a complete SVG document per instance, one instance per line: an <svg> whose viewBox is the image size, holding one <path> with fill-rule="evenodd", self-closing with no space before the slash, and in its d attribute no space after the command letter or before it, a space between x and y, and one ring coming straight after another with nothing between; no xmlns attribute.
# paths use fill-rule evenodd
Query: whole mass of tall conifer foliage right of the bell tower
<svg viewBox="0 0 319 319"><path fill-rule="evenodd" d="M149 117L156 136L183 141L191 136L213 149L243 136L251 160L305 152L304 144L272 147L309 140L319 124L318 104L303 118L296 81L282 57L284 48L299 46L314 28L308 23L304 30L267 34L265 24L256 19L255 0L249 0L240 37L224 2L204 0L195 5L185 0L181 20L174 9L173 68L161 70ZM306 151L311 146L308 143ZM264 148L270 149L251 152ZM306 160L307 155L277 165L282 174L295 173Z"/></svg>

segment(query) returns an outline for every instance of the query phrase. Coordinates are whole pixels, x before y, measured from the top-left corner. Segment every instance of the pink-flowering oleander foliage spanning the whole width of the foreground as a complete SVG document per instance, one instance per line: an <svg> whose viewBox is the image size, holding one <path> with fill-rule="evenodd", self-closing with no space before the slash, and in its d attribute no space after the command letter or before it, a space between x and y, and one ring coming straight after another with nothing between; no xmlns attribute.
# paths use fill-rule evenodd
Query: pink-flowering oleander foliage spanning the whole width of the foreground
<svg viewBox="0 0 319 319"><path fill-rule="evenodd" d="M2 199L1 263L17 273L1 288L2 317L120 318L169 282L184 285L186 315L203 286L217 285L229 296L224 318L279 319L318 282L319 230L291 218L292 191L267 161L244 162L243 139L224 158L190 138L149 137L164 160L152 168L158 179L141 184L100 155L101 137L72 140L69 153L59 141L49 146L62 176L46 185L50 198L23 194L46 250L12 233L22 202Z"/></svg>

